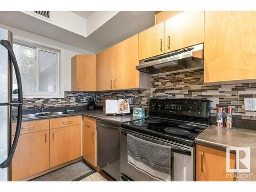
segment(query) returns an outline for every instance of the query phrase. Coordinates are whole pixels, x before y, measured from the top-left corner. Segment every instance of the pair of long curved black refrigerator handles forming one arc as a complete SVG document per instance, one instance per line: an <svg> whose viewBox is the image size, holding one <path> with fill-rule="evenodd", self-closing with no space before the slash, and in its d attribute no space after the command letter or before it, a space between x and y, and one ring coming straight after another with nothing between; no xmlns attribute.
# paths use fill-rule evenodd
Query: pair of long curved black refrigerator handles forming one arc
<svg viewBox="0 0 256 192"><path fill-rule="evenodd" d="M12 46L10 44L10 41L1 40L0 44L3 45L8 50L8 53L9 53L9 55L11 57L11 60L12 60L12 63L13 63L13 67L14 67L14 70L15 70L16 78L17 78L17 86L18 86L18 100L15 101L15 102L19 103L19 104L17 104L17 107L18 107L17 125L16 125L16 132L15 132L15 136L14 136L14 139L13 139L12 147L11 147L11 150L9 152L8 158L3 163L0 164L0 168L6 168L6 167L10 166L13 155L14 155L16 147L17 147L17 144L18 144L20 126L22 125L22 102L23 102L23 97L22 97L22 80L20 78L18 63L17 63L17 60L15 58Z"/></svg>

